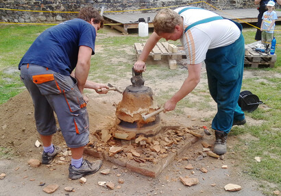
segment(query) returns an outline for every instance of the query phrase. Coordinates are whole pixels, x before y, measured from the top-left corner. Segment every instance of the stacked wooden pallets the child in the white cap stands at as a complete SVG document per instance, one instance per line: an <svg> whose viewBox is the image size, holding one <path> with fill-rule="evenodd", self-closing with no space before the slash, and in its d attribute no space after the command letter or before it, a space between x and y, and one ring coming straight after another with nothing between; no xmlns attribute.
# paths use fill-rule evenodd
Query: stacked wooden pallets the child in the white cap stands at
<svg viewBox="0 0 281 196"><path fill-rule="evenodd" d="M249 45L245 45L245 67L262 68L262 67L274 67L277 60L276 54L270 55L268 53L256 51L256 47L261 42L253 42Z"/></svg>

